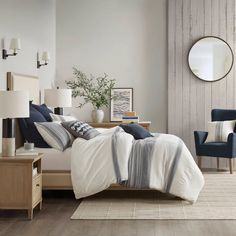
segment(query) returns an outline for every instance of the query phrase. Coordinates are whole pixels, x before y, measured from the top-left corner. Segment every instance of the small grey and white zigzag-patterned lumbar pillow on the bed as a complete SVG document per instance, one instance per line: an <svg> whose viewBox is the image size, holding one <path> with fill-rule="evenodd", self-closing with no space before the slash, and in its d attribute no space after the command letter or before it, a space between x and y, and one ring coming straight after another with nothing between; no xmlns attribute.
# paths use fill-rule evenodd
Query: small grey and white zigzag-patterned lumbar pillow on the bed
<svg viewBox="0 0 236 236"><path fill-rule="evenodd" d="M63 122L62 126L67 129L76 138L84 138L86 140L98 136L100 133L89 124L82 121Z"/></svg>

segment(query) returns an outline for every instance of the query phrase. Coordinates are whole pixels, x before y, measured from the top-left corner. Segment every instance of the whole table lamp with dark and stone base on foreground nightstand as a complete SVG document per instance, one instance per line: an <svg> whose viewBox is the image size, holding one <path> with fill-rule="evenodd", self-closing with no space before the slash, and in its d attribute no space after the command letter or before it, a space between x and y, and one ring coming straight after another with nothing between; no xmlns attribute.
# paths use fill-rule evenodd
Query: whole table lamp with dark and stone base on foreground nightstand
<svg viewBox="0 0 236 236"><path fill-rule="evenodd" d="M0 91L2 122L2 156L15 156L15 119L29 117L28 91Z"/></svg>

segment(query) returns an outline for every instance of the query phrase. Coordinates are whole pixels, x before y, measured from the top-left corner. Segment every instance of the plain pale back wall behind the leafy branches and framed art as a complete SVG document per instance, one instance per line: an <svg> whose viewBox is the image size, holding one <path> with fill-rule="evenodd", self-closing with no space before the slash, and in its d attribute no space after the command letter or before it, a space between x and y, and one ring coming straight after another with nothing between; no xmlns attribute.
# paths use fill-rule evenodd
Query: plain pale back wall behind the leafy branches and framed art
<svg viewBox="0 0 236 236"><path fill-rule="evenodd" d="M88 74L106 72L117 87L133 87L141 119L166 132L166 5L166 0L57 0L57 84L65 87L73 66ZM90 120L91 109L73 112Z"/></svg>

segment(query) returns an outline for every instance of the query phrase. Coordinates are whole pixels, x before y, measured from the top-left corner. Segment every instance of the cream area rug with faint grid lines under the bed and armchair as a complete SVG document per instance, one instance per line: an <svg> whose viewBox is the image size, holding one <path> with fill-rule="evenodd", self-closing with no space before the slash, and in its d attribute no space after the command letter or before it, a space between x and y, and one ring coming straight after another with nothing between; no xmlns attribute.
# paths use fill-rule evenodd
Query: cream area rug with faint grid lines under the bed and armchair
<svg viewBox="0 0 236 236"><path fill-rule="evenodd" d="M193 205L157 191L110 191L84 199L71 219L236 219L236 175L204 177L205 186Z"/></svg>

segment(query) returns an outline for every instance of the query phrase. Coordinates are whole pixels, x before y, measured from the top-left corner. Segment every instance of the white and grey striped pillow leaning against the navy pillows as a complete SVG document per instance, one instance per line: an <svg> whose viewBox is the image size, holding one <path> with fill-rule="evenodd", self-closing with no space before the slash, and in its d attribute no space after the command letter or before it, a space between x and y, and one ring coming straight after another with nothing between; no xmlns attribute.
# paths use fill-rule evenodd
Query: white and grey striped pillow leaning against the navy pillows
<svg viewBox="0 0 236 236"><path fill-rule="evenodd" d="M35 123L38 132L52 148L64 151L71 146L74 138L62 125L54 122Z"/></svg>

